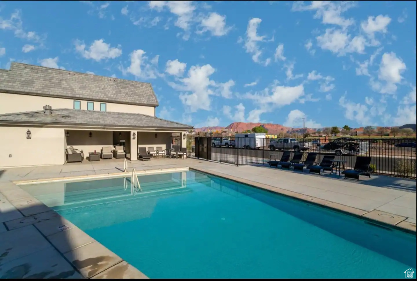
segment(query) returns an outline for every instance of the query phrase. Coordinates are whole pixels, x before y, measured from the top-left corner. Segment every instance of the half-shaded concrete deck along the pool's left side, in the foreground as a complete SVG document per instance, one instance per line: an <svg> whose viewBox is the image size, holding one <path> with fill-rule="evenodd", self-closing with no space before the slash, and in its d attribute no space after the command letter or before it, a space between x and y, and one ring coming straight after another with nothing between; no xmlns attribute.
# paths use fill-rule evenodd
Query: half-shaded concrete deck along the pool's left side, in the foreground
<svg viewBox="0 0 417 281"><path fill-rule="evenodd" d="M0 183L0 278L147 278L13 183Z"/></svg>

